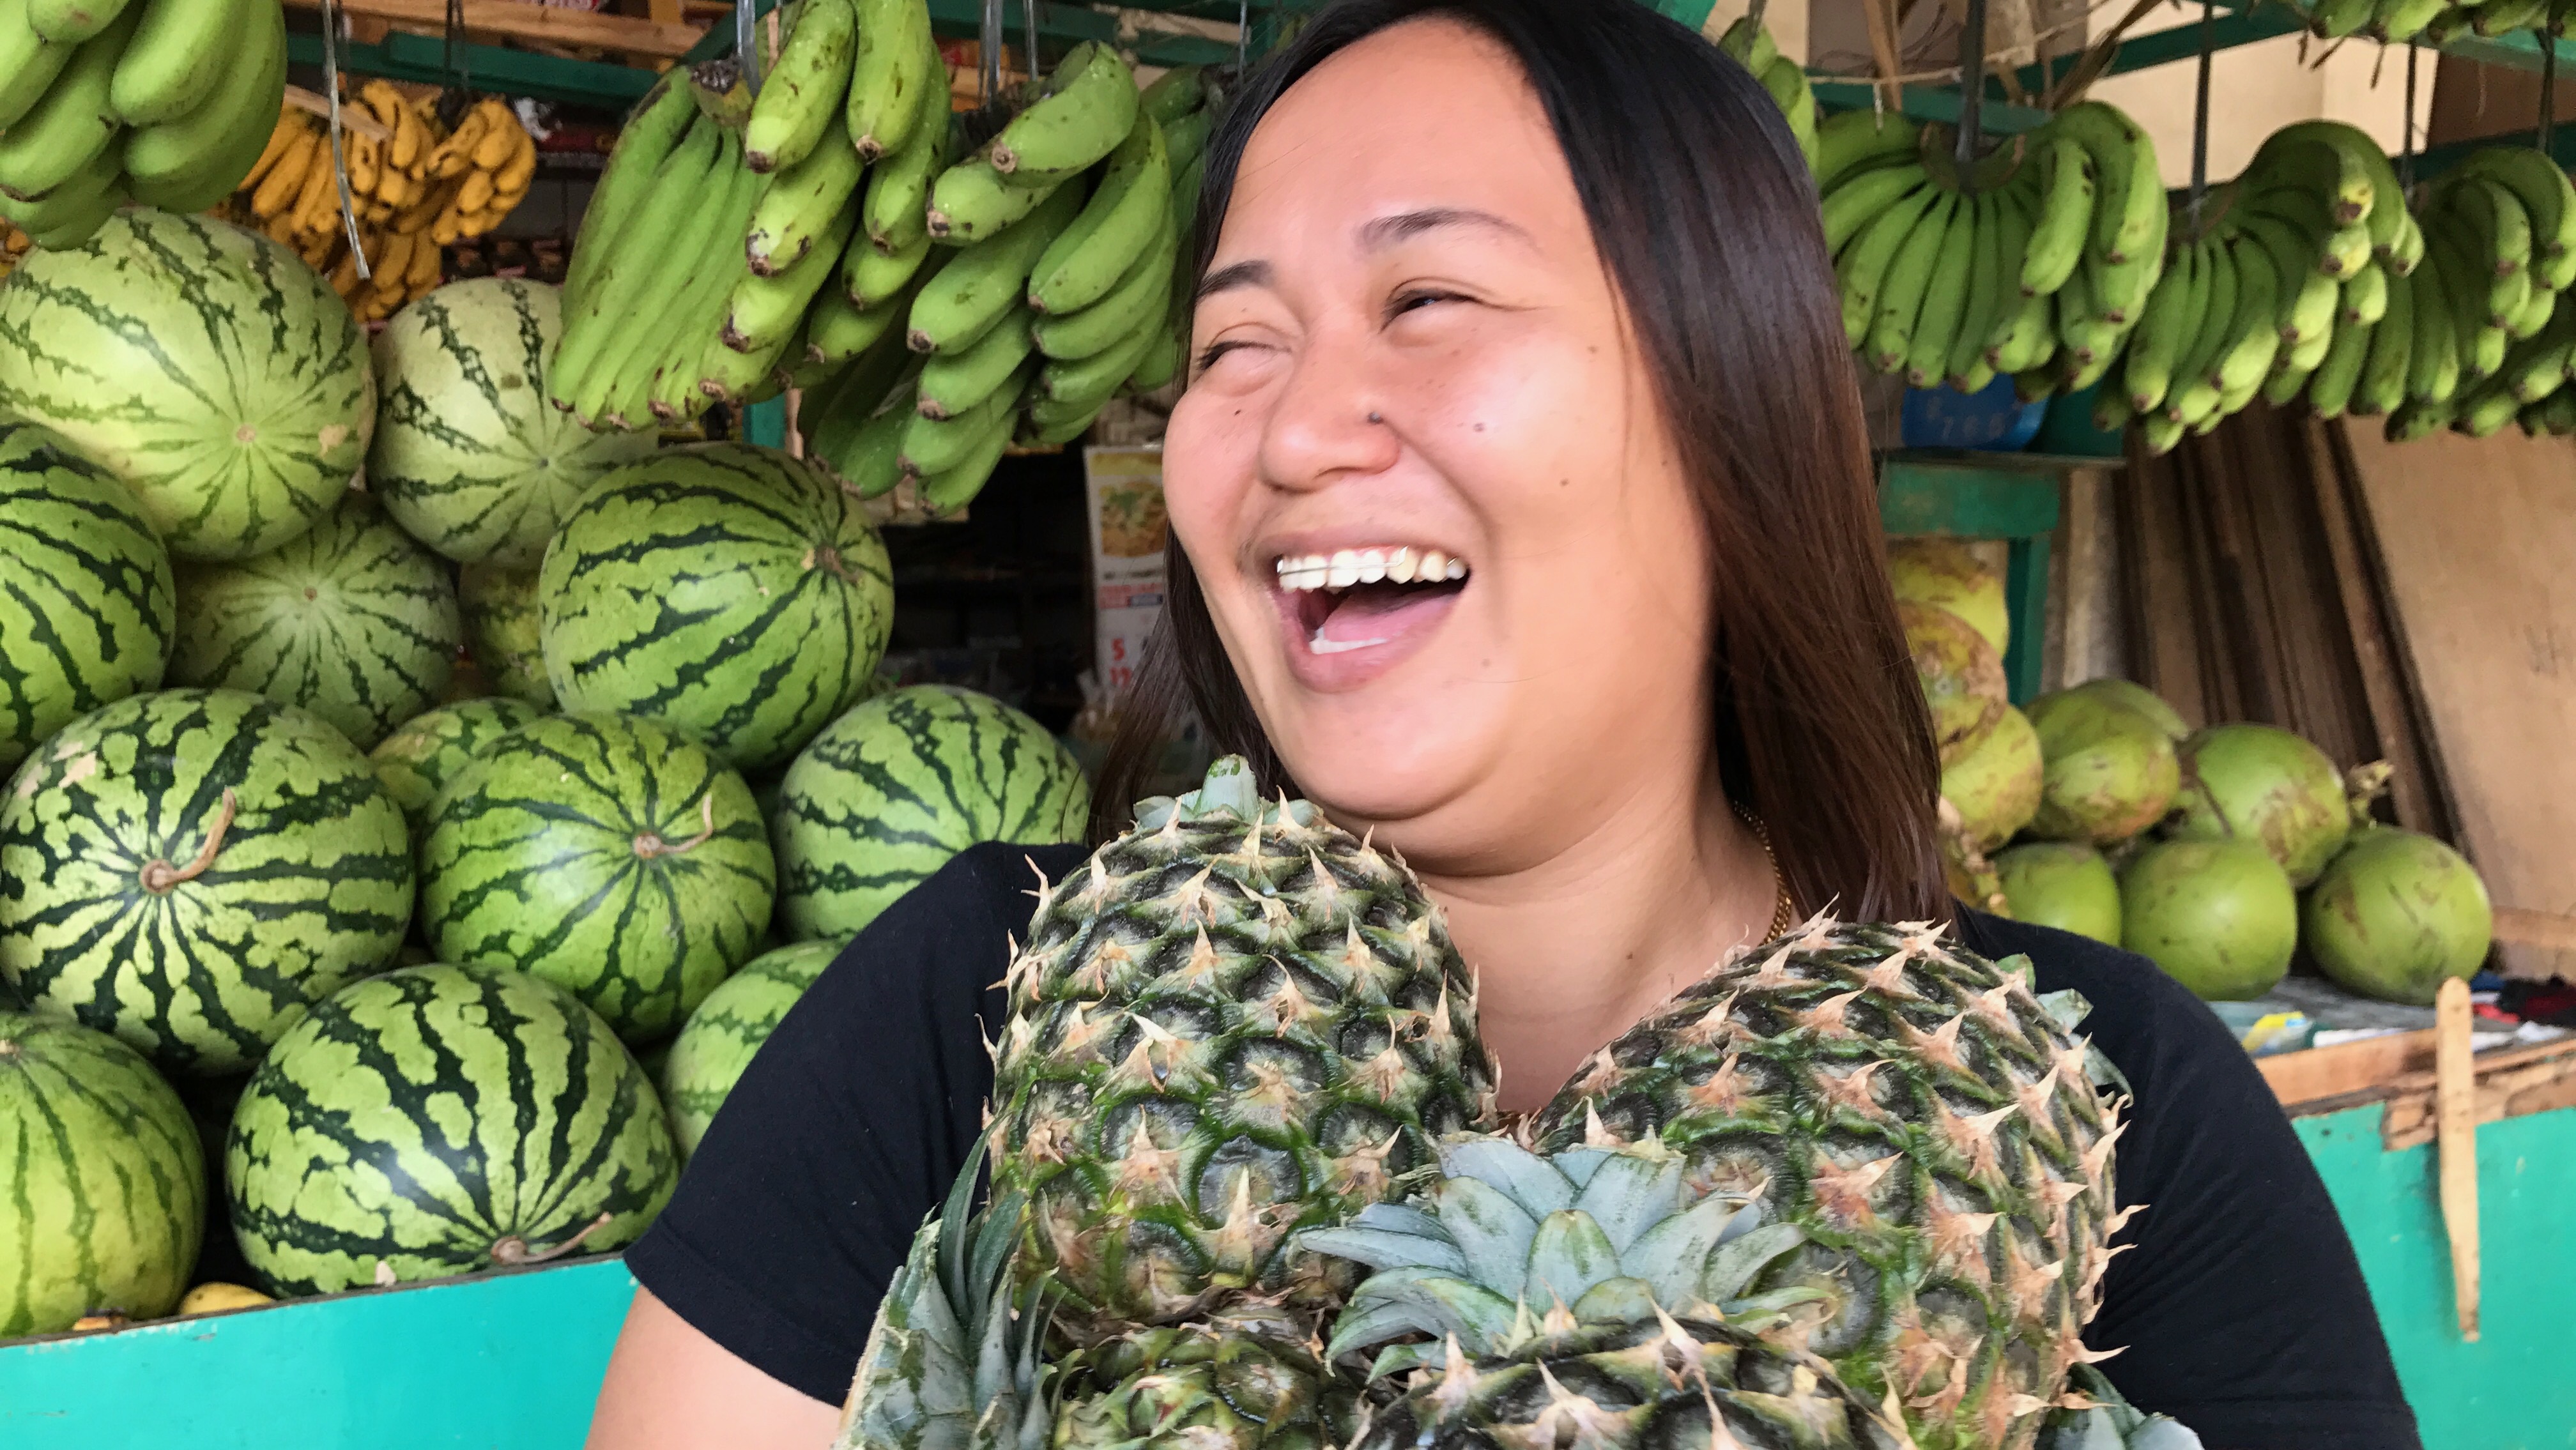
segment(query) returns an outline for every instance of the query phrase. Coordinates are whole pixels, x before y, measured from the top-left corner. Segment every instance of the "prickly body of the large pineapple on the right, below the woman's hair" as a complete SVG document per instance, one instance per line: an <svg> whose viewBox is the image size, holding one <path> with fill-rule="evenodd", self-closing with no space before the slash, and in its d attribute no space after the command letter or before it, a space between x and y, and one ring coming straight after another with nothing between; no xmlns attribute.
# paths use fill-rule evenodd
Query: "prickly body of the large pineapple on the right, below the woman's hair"
<svg viewBox="0 0 2576 1450"><path fill-rule="evenodd" d="M1924 925L1808 922L1602 1048L1538 1115L1543 1151L1649 1133L1698 1187L1808 1231L1757 1288L1826 1293L1793 1329L1922 1450L2020 1450L2084 1360L2117 1105L2020 976ZM1777 1332L1775 1332L1777 1337Z"/></svg>

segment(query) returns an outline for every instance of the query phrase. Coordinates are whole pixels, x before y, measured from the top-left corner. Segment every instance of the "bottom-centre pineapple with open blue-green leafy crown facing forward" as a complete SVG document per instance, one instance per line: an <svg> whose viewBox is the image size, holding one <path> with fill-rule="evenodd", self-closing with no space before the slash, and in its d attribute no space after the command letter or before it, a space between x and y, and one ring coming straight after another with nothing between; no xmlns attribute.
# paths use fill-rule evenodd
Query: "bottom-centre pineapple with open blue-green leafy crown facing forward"
<svg viewBox="0 0 2576 1450"><path fill-rule="evenodd" d="M1811 1290L1736 1298L1806 1234L1698 1190L1680 1154L1646 1138L1540 1159L1468 1138L1443 1159L1425 1200L1301 1236L1378 1270L1334 1357L1432 1334L1376 1357L1370 1378L1409 1391L1355 1450L1906 1445L1824 1360L1759 1334Z"/></svg>

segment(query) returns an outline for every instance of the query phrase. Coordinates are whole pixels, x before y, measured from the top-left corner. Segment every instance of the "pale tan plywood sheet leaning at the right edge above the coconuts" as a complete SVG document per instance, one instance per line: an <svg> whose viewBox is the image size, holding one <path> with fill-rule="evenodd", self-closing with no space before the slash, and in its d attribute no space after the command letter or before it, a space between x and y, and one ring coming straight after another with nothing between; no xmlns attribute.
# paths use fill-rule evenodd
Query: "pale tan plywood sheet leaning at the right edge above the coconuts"
<svg viewBox="0 0 2576 1450"><path fill-rule="evenodd" d="M2385 443L2362 428L2347 446L2458 845L2496 907L2576 917L2576 443ZM2576 976L2566 945L2504 943L2501 961L2512 976Z"/></svg>

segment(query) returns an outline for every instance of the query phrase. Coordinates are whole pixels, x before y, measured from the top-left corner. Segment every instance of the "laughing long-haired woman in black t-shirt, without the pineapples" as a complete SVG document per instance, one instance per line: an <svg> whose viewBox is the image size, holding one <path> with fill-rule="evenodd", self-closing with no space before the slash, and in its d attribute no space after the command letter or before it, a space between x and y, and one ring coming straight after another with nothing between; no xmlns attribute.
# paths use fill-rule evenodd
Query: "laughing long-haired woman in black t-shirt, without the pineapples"
<svg viewBox="0 0 2576 1450"><path fill-rule="evenodd" d="M2218 1020L1942 891L1816 196L1752 77L1625 0L1345 3L1247 85L1200 237L1172 603L1103 806L1195 708L1394 842L1481 974L1504 1110L1783 912L2027 953L2136 1089L2110 1378L2213 1450L2416 1445ZM1030 863L1079 860L969 850L788 1015L629 1254L592 1445L829 1437L976 1133Z"/></svg>

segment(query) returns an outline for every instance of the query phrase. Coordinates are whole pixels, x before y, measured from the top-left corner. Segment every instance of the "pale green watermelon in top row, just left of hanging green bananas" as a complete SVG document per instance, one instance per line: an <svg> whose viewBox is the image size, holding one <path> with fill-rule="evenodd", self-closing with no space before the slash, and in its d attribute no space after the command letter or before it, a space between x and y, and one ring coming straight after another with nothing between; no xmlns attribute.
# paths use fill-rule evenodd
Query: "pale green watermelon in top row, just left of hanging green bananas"
<svg viewBox="0 0 2576 1450"><path fill-rule="evenodd" d="M394 523L459 564L533 569L554 525L652 433L590 433L546 404L562 335L554 286L448 283L376 335L376 446L366 487Z"/></svg>

